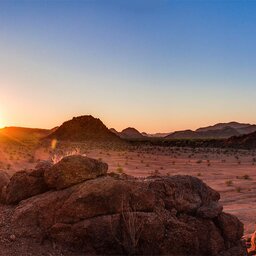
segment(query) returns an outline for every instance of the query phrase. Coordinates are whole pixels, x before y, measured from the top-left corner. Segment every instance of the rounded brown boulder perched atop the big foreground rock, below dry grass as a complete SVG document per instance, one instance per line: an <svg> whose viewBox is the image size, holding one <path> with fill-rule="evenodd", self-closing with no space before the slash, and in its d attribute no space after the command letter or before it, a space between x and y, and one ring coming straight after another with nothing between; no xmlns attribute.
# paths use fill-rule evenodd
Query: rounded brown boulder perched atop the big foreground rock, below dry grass
<svg viewBox="0 0 256 256"><path fill-rule="evenodd" d="M83 181L105 175L108 165L81 155L64 157L45 171L45 182L50 188L63 189Z"/></svg>

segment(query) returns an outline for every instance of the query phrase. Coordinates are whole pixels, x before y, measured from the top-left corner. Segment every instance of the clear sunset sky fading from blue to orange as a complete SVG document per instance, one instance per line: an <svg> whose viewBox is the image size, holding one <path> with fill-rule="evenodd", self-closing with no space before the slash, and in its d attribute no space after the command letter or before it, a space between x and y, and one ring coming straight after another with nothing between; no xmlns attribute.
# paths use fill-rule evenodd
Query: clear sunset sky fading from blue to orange
<svg viewBox="0 0 256 256"><path fill-rule="evenodd" d="M256 1L0 0L0 126L256 123Z"/></svg>

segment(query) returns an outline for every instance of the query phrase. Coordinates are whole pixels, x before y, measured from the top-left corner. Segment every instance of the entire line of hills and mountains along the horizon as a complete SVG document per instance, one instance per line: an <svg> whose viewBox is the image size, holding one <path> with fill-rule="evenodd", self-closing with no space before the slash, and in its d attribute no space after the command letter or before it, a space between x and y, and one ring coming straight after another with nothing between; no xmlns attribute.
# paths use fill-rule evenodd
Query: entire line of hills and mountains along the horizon
<svg viewBox="0 0 256 256"><path fill-rule="evenodd" d="M125 140L163 140L180 139L224 139L223 146L255 147L256 125L238 122L219 123L202 127L195 131L184 130L173 133L147 134L128 127L121 132L114 128L108 129L103 122L91 115L74 117L53 129L33 129L23 127L6 127L0 129L0 142L26 143L37 142L41 139L57 139L73 142L115 142Z"/></svg>

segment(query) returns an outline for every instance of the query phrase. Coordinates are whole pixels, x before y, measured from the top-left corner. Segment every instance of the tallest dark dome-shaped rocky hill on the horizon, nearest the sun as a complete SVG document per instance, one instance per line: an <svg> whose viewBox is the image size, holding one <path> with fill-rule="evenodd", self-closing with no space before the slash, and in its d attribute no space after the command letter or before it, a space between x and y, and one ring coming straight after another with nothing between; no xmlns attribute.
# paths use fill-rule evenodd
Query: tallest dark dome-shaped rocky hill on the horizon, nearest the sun
<svg viewBox="0 0 256 256"><path fill-rule="evenodd" d="M46 139L70 142L121 142L121 139L111 132L100 119L91 115L74 117L64 122Z"/></svg>

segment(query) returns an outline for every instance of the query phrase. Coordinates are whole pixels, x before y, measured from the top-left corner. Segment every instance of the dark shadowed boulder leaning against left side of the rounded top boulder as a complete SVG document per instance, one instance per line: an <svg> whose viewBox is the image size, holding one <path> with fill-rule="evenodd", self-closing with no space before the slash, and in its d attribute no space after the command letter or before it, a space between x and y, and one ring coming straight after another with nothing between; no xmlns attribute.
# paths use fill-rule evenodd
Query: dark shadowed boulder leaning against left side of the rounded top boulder
<svg viewBox="0 0 256 256"><path fill-rule="evenodd" d="M41 194L49 190L44 181L44 172L50 164L40 165L34 170L16 172L10 179L5 190L4 201L7 204L16 204L21 200Z"/></svg>

